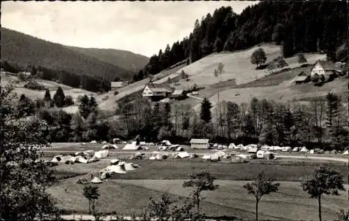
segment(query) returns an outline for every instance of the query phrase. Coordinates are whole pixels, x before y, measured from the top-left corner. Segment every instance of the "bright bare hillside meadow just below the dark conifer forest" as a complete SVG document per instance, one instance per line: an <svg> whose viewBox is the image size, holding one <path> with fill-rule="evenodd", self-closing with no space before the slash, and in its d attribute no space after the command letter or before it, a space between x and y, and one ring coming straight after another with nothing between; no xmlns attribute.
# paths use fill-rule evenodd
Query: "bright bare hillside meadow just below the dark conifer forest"
<svg viewBox="0 0 349 221"><path fill-rule="evenodd" d="M253 48L238 52L211 54L193 64L185 66L183 69L177 71L177 73L173 73L168 77L177 77L181 70L184 70L185 73L188 73L189 78L196 84L211 85L218 81L217 78L214 77L214 69L217 68L219 62L222 62L224 64L224 73L221 75L222 81L235 79L237 85L248 83L269 74L267 70L255 70L255 65L251 64L251 55L257 48L265 50L267 62L281 56L282 53L281 46L279 45L262 44L260 47L254 46ZM318 54L307 54L305 57L309 64L315 63L318 59L326 59L326 55ZM290 68L299 66L297 57L290 57L285 59L285 61L289 64Z"/></svg>

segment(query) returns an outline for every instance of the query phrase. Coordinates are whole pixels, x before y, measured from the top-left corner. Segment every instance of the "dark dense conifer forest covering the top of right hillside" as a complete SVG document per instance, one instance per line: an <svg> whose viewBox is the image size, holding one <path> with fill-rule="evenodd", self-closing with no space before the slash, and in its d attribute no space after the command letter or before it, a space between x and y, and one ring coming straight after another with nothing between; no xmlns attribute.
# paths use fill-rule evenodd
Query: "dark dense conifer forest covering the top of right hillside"
<svg viewBox="0 0 349 221"><path fill-rule="evenodd" d="M272 13L270 13L272 12ZM240 15L221 7L196 20L191 34L166 45L149 59L133 80L142 80L187 59L195 62L212 52L251 48L260 43L282 45L283 57L299 52L324 52L329 59L348 60L345 1L262 1ZM336 54L337 48L346 54ZM341 57L339 59L338 57Z"/></svg>

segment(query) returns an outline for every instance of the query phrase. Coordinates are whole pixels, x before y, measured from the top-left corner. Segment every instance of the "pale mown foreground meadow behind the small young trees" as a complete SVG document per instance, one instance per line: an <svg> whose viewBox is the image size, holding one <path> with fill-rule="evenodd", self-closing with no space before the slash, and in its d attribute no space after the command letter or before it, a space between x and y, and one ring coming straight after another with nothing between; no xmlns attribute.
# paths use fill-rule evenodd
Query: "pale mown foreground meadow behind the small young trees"
<svg viewBox="0 0 349 221"><path fill-rule="evenodd" d="M63 180L50 188L49 192L59 199L59 206L74 213L87 213L88 202L82 196L82 185L74 178ZM109 180L98 184L101 197L96 206L98 211L119 214L140 214L149 204L149 197L159 197L169 192L175 199L188 197L181 187L184 180ZM216 180L215 192L206 192L201 204L207 215L227 215L243 220L254 218L254 199L242 188L244 181ZM348 185L346 185L348 188ZM67 192L64 192L67 188ZM347 204L346 192L341 196L325 196L322 204L324 220L334 220L340 208ZM181 200L179 201L179 203ZM219 211L217 213L217 211ZM316 220L317 201L309 199L299 182L281 182L280 191L266 195L260 201L260 219L269 220Z"/></svg>

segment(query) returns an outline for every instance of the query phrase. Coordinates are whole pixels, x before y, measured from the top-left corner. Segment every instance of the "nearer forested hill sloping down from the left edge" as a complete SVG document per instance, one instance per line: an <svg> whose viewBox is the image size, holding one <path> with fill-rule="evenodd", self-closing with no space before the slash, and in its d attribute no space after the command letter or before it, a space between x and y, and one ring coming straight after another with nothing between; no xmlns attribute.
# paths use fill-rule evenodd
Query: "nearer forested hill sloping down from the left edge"
<svg viewBox="0 0 349 221"><path fill-rule="evenodd" d="M131 78L133 71L101 62L64 45L44 41L18 31L1 28L1 60L21 66L33 64L87 76Z"/></svg>

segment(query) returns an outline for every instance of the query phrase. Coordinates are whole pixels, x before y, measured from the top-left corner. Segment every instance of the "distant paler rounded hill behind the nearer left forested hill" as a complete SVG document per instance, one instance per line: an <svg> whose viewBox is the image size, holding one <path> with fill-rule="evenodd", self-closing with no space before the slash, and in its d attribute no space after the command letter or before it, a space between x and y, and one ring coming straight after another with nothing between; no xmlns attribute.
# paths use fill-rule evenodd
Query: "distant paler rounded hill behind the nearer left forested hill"
<svg viewBox="0 0 349 221"><path fill-rule="evenodd" d="M143 69L149 62L149 57L138 55L126 50L102 49L102 48L77 48L68 47L89 57L94 57L101 62L119 66L128 71L137 72Z"/></svg>

